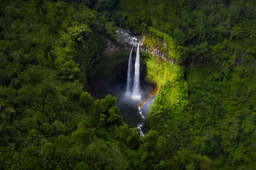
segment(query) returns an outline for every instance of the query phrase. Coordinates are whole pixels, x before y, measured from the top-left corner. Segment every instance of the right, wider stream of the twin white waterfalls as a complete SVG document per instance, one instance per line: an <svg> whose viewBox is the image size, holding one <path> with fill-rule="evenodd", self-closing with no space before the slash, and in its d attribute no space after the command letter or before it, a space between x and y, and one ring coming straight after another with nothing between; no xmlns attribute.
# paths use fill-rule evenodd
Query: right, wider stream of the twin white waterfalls
<svg viewBox="0 0 256 170"><path fill-rule="evenodd" d="M135 73L134 73L134 85L132 90L132 98L140 100L140 49L139 43L136 53L136 61L135 61Z"/></svg>

